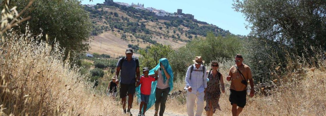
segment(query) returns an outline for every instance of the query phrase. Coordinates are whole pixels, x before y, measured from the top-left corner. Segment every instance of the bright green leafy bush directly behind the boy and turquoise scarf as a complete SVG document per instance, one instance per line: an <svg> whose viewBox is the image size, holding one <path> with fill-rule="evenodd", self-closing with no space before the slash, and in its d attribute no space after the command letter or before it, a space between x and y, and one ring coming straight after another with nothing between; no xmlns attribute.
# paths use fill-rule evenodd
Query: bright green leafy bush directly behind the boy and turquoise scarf
<svg viewBox="0 0 326 116"><path fill-rule="evenodd" d="M158 60L161 58L167 58L169 54L173 52L170 45L155 44L147 48L147 51L141 49L139 53L140 67L154 68L158 64Z"/></svg>

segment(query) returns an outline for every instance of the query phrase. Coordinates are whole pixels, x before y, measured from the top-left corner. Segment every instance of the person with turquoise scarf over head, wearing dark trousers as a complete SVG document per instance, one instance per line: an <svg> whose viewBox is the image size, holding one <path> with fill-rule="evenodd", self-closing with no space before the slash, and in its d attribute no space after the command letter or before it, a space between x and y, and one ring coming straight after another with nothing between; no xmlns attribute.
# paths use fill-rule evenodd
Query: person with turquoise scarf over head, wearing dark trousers
<svg viewBox="0 0 326 116"><path fill-rule="evenodd" d="M149 71L150 76L155 76L157 74L157 81L152 82L151 95L149 97L149 102L147 104L147 110L150 109L155 104L155 116L157 116L158 109L160 106L159 115L163 116L165 110L165 103L168 97L168 94L173 89L173 71L169 64L168 59L161 58L159 63L155 68ZM136 88L136 94L138 101L140 101L140 88L141 85Z"/></svg>

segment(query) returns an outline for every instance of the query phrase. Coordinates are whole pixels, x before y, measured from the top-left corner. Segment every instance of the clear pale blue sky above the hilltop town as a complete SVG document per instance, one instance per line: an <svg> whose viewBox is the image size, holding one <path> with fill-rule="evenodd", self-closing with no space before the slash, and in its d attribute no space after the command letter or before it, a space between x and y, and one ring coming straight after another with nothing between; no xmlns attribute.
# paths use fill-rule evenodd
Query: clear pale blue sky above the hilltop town
<svg viewBox="0 0 326 116"><path fill-rule="evenodd" d="M229 30L233 34L247 35L251 30L245 29L245 21L242 13L234 11L232 0L113 0L114 2L124 2L131 4L140 3L144 7L153 7L167 12L177 12L182 9L185 14L192 14L195 19L214 24L224 30ZM104 0L82 0L82 4L97 4Z"/></svg>

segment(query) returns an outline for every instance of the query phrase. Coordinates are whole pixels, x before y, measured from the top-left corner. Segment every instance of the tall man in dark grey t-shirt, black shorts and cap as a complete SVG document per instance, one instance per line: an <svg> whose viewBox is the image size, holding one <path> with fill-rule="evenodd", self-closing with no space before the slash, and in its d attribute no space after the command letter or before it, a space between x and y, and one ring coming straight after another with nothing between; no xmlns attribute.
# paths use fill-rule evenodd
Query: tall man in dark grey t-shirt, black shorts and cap
<svg viewBox="0 0 326 116"><path fill-rule="evenodd" d="M136 80L139 80L140 71L139 71L139 61L137 58L133 58L133 50L131 48L126 49L126 57L120 58L117 63L117 69L115 71L115 76L119 77L120 81L116 81L116 83L120 83L120 98L122 102L122 108L124 109L124 113L130 113L130 109L133 102L133 95L135 93L135 83ZM136 76L137 75L137 76ZM136 78L135 78L136 77ZM128 93L128 110L126 111L126 95ZM130 113L131 115L131 113Z"/></svg>

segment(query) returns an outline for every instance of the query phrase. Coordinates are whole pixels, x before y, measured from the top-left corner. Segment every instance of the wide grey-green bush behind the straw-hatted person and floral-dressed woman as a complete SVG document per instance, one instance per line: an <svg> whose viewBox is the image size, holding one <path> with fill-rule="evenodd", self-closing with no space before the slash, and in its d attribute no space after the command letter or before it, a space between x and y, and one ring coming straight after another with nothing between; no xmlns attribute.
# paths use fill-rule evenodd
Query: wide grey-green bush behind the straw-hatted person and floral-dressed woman
<svg viewBox="0 0 326 116"><path fill-rule="evenodd" d="M171 67L175 72L185 73L196 56L203 57L206 63L218 58L233 58L235 54L242 52L242 43L243 40L238 36L215 36L214 33L209 32L205 39L195 38L170 54Z"/></svg>

